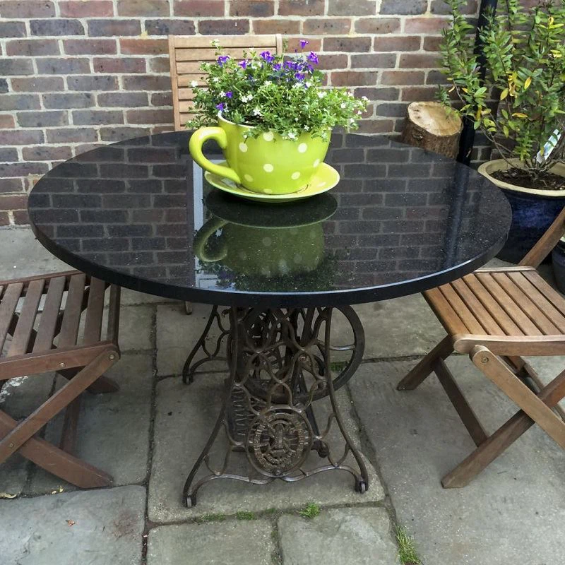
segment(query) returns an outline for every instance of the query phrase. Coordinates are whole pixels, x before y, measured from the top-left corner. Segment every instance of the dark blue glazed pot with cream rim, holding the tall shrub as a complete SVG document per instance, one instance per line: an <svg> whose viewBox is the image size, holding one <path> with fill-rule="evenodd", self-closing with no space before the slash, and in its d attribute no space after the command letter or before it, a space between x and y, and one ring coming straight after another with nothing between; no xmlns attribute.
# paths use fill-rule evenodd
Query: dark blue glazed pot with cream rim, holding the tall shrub
<svg viewBox="0 0 565 565"><path fill-rule="evenodd" d="M479 172L504 192L512 208L509 236L497 257L519 263L565 206L565 191L525 189L491 176L495 171L508 168L504 159L497 159L483 163ZM552 172L565 177L565 165L555 165Z"/></svg>

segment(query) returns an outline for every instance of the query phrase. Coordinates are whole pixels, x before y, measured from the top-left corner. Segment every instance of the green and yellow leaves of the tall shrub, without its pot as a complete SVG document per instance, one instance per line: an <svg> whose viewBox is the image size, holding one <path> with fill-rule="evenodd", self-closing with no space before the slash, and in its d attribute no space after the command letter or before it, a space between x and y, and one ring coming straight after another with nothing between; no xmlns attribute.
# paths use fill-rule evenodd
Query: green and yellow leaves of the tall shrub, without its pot
<svg viewBox="0 0 565 565"><path fill-rule="evenodd" d="M463 102L458 113L472 119L504 158L518 157L537 177L564 159L565 136L559 141L552 136L565 129L565 0L542 1L531 9L519 0L503 0L496 13L487 13L479 30L484 81L475 30L461 13L464 0L446 2L453 23L443 32L441 56L451 87L440 88L441 100L451 105L455 93ZM553 150L542 158L546 143Z"/></svg>

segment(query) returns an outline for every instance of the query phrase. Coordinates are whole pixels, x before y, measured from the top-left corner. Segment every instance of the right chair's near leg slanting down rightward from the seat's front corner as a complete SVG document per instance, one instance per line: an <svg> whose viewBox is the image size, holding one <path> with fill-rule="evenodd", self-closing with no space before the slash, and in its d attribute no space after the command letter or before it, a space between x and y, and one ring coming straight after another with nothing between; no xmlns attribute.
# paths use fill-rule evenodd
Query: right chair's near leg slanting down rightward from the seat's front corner
<svg viewBox="0 0 565 565"><path fill-rule="evenodd" d="M496 384L532 420L535 420L561 448L565 449L565 422L557 417L547 404L530 391L487 347L475 345L470 352L470 357L488 379Z"/></svg>

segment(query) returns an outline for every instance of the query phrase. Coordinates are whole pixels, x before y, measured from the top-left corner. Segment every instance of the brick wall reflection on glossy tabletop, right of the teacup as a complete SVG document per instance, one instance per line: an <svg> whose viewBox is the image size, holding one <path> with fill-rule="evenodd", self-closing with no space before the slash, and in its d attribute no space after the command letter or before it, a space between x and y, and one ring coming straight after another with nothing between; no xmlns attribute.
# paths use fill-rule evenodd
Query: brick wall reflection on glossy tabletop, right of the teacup
<svg viewBox="0 0 565 565"><path fill-rule="evenodd" d="M343 163L336 167L340 191L347 189L350 206L338 208L323 224L326 251L340 257L338 270L355 273L359 285L372 285L441 268L448 206L443 199L438 201L438 187L451 186L453 165L422 166L419 151L390 146L385 138L375 140L378 148L339 148L340 143L335 139L331 161ZM367 140L363 143L367 145ZM367 165L367 161L375 164ZM376 192L380 181L386 190ZM468 191L464 206L472 206L479 195L479 191ZM341 195L335 197L339 200ZM463 234L472 226L464 221L458 229Z"/></svg>

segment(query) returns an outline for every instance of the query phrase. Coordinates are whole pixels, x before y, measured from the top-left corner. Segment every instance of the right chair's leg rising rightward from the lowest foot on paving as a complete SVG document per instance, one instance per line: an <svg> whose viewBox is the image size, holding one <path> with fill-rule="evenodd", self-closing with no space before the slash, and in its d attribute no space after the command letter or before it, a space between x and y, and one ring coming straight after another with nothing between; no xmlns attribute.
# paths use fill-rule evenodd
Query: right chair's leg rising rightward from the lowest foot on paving
<svg viewBox="0 0 565 565"><path fill-rule="evenodd" d="M531 394L531 393L530 393ZM538 398L552 408L565 396L565 371L542 388ZM465 487L487 465L492 463L506 448L516 441L535 422L523 411L516 412L505 424L484 441L470 456L441 480L446 489Z"/></svg>

